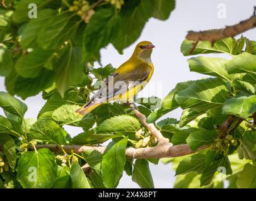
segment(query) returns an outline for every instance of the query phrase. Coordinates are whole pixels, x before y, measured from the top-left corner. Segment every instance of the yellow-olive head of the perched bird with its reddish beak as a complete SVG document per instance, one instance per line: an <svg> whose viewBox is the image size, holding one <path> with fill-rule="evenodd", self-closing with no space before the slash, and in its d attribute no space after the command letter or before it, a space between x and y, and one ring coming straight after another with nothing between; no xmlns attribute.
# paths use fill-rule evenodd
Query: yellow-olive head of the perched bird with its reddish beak
<svg viewBox="0 0 256 201"><path fill-rule="evenodd" d="M150 60L151 53L153 51L154 45L149 41L141 41L136 45L133 56L139 57L142 60Z"/></svg>

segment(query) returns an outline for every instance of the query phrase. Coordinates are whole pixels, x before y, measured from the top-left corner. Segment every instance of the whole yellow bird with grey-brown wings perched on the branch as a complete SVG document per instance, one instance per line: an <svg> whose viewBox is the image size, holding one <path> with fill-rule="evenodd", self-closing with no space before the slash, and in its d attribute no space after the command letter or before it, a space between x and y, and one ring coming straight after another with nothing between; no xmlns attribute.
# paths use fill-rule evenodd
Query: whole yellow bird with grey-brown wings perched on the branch
<svg viewBox="0 0 256 201"><path fill-rule="evenodd" d="M154 45L149 41L141 41L136 45L132 57L120 65L107 79L102 88L76 112L88 114L101 104L120 100L132 102L134 95L141 91L152 77L154 66L151 53Z"/></svg>

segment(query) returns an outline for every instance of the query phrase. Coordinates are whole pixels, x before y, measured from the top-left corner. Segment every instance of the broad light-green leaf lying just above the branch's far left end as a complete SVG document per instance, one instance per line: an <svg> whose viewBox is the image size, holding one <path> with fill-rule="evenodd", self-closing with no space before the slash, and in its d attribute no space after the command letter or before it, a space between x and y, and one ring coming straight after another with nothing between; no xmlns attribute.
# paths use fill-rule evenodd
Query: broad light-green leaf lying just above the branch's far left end
<svg viewBox="0 0 256 201"><path fill-rule="evenodd" d="M66 144L68 134L54 121L39 119L30 128L30 136L49 143Z"/></svg>

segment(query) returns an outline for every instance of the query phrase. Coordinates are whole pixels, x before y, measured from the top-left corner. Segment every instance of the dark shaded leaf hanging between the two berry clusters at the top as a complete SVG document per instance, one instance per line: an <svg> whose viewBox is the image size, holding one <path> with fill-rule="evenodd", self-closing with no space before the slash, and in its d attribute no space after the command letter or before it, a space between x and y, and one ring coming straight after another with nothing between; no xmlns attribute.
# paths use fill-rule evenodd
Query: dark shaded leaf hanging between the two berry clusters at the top
<svg viewBox="0 0 256 201"><path fill-rule="evenodd" d="M107 46L115 36L119 21L120 16L115 13L115 9L112 6L98 9L93 14L84 30L83 51L86 60L100 60L100 49Z"/></svg>

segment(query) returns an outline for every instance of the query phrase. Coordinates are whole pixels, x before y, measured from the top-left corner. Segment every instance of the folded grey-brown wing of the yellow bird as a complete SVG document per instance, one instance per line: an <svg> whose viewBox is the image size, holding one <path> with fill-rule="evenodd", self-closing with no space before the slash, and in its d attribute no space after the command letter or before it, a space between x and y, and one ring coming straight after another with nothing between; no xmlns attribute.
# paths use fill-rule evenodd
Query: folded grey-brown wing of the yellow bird
<svg viewBox="0 0 256 201"><path fill-rule="evenodd" d="M104 102L116 95L124 94L127 90L132 89L145 81L151 70L152 68L150 65L140 63L134 67L133 70L128 70L127 72L122 73L114 72L104 81L105 85L93 95L88 104Z"/></svg>

